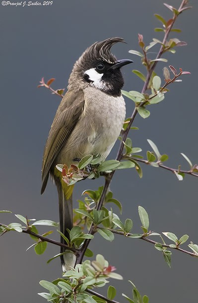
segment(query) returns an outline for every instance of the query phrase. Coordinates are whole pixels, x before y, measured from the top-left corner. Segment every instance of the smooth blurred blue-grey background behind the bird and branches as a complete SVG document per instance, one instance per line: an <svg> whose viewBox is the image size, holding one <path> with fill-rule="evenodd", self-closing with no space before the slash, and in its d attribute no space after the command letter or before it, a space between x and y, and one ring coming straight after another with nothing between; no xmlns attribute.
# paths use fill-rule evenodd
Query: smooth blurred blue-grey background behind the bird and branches
<svg viewBox="0 0 198 303"><path fill-rule="evenodd" d="M3 6L0 4L1 33L1 108L0 108L0 209L11 210L28 218L51 219L58 217L55 186L49 182L43 196L41 188L41 163L43 148L60 98L50 91L37 88L42 76L55 77L54 88L66 87L75 60L93 42L108 37L123 37L128 44L118 44L112 49L119 59L130 58L133 65L123 68L125 90L141 90L143 82L132 74L132 69L143 70L140 57L129 54L138 49L137 34L145 43L163 33L155 33L161 24L154 13L171 17L164 0L54 0L51 6ZM181 0L168 3L179 7ZM191 72L183 81L170 86L165 101L150 107L151 115L143 120L136 117L134 126L139 131L130 133L134 147L141 147L143 155L151 150L146 139L156 143L161 153L167 153L167 165L177 167L188 164L180 152L198 163L198 98L197 98L197 49L198 2L190 1L193 9L185 11L176 28L182 33L172 33L186 41L188 46L177 48L175 55L166 54L168 63L160 62L158 75L164 66L173 65ZM151 49L156 52L157 48ZM154 58L155 54L151 54ZM127 116L133 102L126 98ZM109 158L114 158L115 145ZM116 172L111 190L123 203L121 219L133 220L133 232L140 232L137 207L143 206L150 216L152 230L172 231L181 236L190 235L198 243L198 179L186 176L179 182L171 172L143 166L143 178L134 169ZM90 180L79 182L74 199L80 199L85 189L97 189L104 182ZM76 204L74 205L77 206ZM115 209L115 211L118 211ZM17 221L11 214L0 214L0 222ZM39 230L49 230L40 228ZM53 237L53 235L52 235ZM58 234L54 238L59 239ZM38 256L26 234L9 232L0 238L0 302L42 303L37 295L45 291L40 280L52 281L61 277L60 261L46 261L59 253L51 244ZM184 246L187 247L187 246ZM139 239L116 236L114 242L96 235L90 248L101 253L124 276L123 281L111 280L118 287L117 300L124 302L122 293L131 296L128 280L141 294L148 295L155 303L194 303L198 298L198 260L173 251L172 268L169 269L159 251ZM102 290L101 290L102 291Z"/></svg>

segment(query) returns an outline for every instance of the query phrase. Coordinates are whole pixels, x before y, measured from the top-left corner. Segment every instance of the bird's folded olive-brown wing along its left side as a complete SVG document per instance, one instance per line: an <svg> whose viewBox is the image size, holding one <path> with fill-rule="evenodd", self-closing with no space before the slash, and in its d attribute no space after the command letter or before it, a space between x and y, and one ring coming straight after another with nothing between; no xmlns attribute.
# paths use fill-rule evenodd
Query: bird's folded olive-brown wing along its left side
<svg viewBox="0 0 198 303"><path fill-rule="evenodd" d="M76 122L78 121L84 108L84 93L82 91L74 92L73 90L67 91L63 97L54 121L51 126L51 130L46 142L43 166L42 166L42 189L44 192L47 185L50 168L56 159L58 153L62 147L66 144L66 141L73 130Z"/></svg>

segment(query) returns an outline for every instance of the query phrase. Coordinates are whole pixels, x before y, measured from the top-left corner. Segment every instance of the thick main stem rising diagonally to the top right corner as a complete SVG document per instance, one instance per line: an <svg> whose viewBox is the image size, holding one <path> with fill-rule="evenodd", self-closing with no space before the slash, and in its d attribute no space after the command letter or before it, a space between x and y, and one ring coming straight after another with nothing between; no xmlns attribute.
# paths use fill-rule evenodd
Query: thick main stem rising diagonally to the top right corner
<svg viewBox="0 0 198 303"><path fill-rule="evenodd" d="M182 3L181 3L181 5L180 5L180 7L179 7L179 11L180 11L180 12L182 12L182 8L183 8L186 4L187 4L187 0L183 0ZM174 25L174 23L175 23L177 17L178 17L178 15L174 14L174 17L173 17L173 19L172 19L171 24L169 25L168 28L166 28L166 31L165 31L165 34L164 34L164 39L163 39L163 42L162 42L163 45L166 44L168 35L169 35L169 33L170 33L170 31L171 31L171 29L172 29L172 27L173 27L173 25ZM158 54L157 54L156 59L159 59L159 58L161 57L161 55L163 54L163 52L164 52L164 46L163 46L163 45L161 45L160 50L159 50L159 52L158 52ZM147 76L146 76L145 83L144 83L143 88L142 88L142 90L141 90L141 93L145 93L145 91L147 90L147 87L148 87L148 83L149 83L150 77L151 77L152 72L153 72L153 70L155 69L157 63L158 63L158 61L155 61L155 62L153 63L153 65L149 68L149 70L148 70L148 72L147 72ZM147 101L144 101L144 102L140 103L139 106L144 105L146 102L147 102ZM117 153L117 157L116 157L116 160L118 160L118 161L120 161L120 160L122 159L123 149L124 149L124 143L125 143L125 141L126 141L126 139L127 139L127 136L128 136L128 134L129 134L129 131L130 131L130 129L131 129L131 126L132 126L132 123L133 123L133 121L134 121L134 118L135 118L136 114L137 114L137 108L135 107L134 110L133 110L133 112L132 112L131 120L129 121L129 124L128 124L126 130L123 131L121 144L120 144L120 147L119 147L119 150L118 150L118 153ZM112 178L113 178L114 173L115 173L115 170L112 171L111 173L109 173L108 176L106 176L106 178L105 178L105 185L104 185L104 188L103 188L103 191L102 191L102 195L101 195L101 197L100 197L100 201L99 201L99 203L98 203L98 205L97 205L97 210L100 210L100 209L102 208L102 206L103 206L103 203L104 203L104 201L105 201L105 197L106 197L106 194L107 194L107 192L108 192L109 185L110 185L110 183L111 183L111 180L112 180ZM88 233L89 233L89 234L94 234L94 233L95 233L95 228L94 228L93 223L91 224L91 227L89 228ZM88 247L88 245L89 245L89 243L90 243L90 240L91 240L91 239L85 239L85 241L84 241L84 243L83 243L83 245L82 245L80 251L79 251L78 254L77 254L76 264L80 264L80 263L82 262L84 253L85 253L85 251L86 251L86 249L87 249L87 247Z"/></svg>

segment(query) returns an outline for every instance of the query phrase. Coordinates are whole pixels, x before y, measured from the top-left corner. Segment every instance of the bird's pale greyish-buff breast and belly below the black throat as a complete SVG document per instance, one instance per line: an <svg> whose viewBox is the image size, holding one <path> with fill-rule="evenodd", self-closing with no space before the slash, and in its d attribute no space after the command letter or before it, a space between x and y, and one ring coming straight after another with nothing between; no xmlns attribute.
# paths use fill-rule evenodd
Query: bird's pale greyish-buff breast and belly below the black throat
<svg viewBox="0 0 198 303"><path fill-rule="evenodd" d="M101 91L96 98L85 102L83 114L57 159L59 163L70 165L74 158L87 154L104 161L113 148L125 120L125 101L122 96L112 97Z"/></svg>

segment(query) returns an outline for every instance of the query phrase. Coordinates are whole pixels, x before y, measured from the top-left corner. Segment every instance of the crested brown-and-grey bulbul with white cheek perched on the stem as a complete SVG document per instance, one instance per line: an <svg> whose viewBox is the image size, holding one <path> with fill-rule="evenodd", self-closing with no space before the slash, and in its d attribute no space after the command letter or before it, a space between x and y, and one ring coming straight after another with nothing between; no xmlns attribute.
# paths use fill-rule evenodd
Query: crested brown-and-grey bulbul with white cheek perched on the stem
<svg viewBox="0 0 198 303"><path fill-rule="evenodd" d="M76 61L45 146L41 194L51 175L59 195L60 229L67 237L66 229L73 227L73 185L67 186L56 165L69 167L87 154L99 157L102 162L120 135L126 115L120 68L132 60L116 59L110 50L117 42L124 40L116 37L95 42ZM61 241L65 243L63 238ZM67 252L61 261L66 271L74 265L75 256Z"/></svg>

